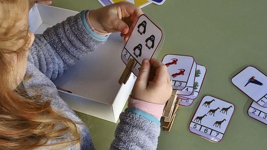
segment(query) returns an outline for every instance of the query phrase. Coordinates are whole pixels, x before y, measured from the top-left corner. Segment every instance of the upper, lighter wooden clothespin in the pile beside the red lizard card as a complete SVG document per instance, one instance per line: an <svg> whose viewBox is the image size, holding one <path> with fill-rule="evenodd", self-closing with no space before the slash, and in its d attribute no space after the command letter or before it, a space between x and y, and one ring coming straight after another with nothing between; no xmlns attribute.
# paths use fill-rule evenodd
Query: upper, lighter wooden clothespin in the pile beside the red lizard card
<svg viewBox="0 0 267 150"><path fill-rule="evenodd" d="M174 109L174 104L176 102L176 99L177 99L177 90L172 90L171 97L169 98L167 105L166 105L166 108L165 108L165 111L163 113L163 117L165 117L164 121L166 121L166 122L171 121L171 115L172 115L172 112Z"/></svg>

